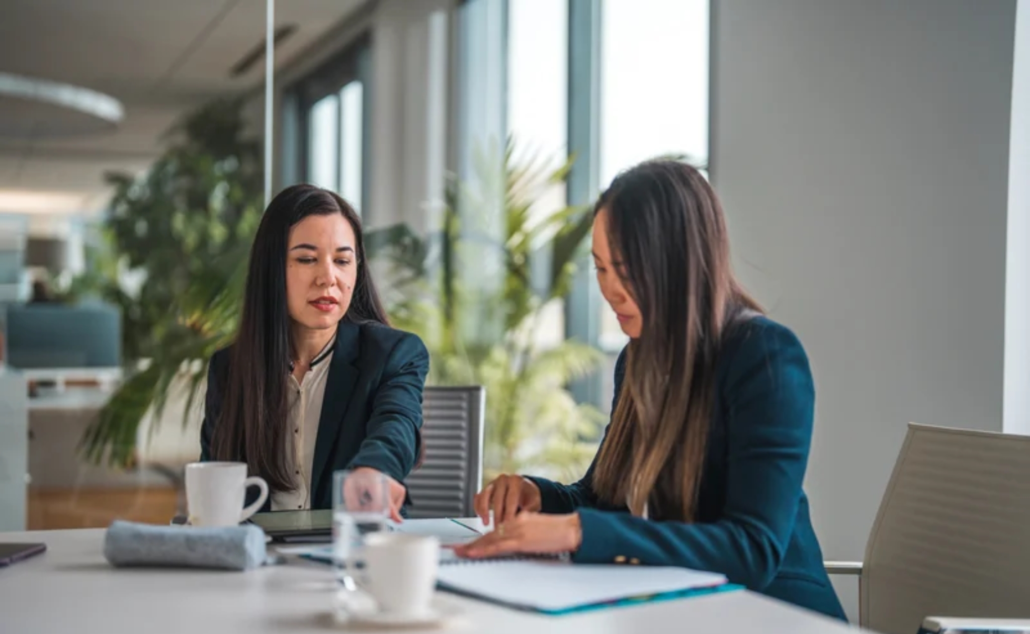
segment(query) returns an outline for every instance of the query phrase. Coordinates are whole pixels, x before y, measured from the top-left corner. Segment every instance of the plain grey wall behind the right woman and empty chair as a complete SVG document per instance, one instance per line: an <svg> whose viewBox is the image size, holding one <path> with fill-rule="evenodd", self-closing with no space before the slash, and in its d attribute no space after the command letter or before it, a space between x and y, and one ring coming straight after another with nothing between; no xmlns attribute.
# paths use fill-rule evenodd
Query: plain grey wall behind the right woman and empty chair
<svg viewBox="0 0 1030 634"><path fill-rule="evenodd" d="M1002 428L1015 7L713 1L713 180L812 360L828 559L862 558L907 422Z"/></svg>

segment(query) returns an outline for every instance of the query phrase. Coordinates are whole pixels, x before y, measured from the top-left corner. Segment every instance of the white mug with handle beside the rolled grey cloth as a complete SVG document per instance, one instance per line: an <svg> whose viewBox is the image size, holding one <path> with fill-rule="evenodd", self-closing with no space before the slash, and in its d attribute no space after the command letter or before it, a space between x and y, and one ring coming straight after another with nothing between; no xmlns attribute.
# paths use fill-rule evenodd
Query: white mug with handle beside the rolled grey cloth
<svg viewBox="0 0 1030 634"><path fill-rule="evenodd" d="M261 494L246 508L247 487ZM191 462L186 465L186 506L193 526L236 526L262 507L268 499L268 483L247 478L245 462Z"/></svg>

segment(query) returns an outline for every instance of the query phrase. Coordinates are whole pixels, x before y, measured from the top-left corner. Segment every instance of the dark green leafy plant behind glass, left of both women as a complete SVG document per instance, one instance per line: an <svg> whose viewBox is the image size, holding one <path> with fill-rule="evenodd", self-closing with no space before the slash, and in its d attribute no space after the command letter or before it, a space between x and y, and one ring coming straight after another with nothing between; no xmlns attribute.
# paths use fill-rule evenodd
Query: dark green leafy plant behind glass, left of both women
<svg viewBox="0 0 1030 634"><path fill-rule="evenodd" d="M166 141L145 175L108 176L115 193L103 242L69 289L122 309L128 378L79 445L91 462L115 467L132 464L147 411L160 416L183 380L192 402L206 360L231 340L262 212L261 145L245 133L241 101L188 113ZM140 273L141 286L127 291L122 270Z"/></svg>

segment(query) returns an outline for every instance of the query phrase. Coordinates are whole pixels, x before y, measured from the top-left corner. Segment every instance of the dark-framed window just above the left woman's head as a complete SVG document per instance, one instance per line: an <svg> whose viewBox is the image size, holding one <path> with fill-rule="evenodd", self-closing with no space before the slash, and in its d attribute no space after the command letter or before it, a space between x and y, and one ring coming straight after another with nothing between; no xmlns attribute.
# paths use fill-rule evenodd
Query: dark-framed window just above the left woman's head
<svg viewBox="0 0 1030 634"><path fill-rule="evenodd" d="M299 178L365 207L370 48L362 40L291 91L297 100Z"/></svg>

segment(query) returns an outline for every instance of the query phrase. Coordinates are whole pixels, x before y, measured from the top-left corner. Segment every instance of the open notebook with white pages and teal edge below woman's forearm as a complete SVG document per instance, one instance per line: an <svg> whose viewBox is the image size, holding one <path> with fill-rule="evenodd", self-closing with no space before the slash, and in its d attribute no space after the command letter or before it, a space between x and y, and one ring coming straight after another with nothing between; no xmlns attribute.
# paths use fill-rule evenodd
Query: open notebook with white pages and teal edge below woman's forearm
<svg viewBox="0 0 1030 634"><path fill-rule="evenodd" d="M444 591L514 609L565 614L740 590L722 574L671 566L485 560L441 566Z"/></svg>

